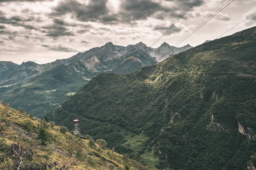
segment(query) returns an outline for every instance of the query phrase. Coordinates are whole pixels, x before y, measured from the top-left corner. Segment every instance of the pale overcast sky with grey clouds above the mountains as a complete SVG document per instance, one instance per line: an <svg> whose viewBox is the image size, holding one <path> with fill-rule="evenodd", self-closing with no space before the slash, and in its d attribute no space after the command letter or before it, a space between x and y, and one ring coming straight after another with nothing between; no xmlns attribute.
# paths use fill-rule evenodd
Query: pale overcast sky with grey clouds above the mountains
<svg viewBox="0 0 256 170"><path fill-rule="evenodd" d="M152 48L163 42L174 45L216 6L227 1L199 0ZM0 61L43 64L110 41L123 46L138 42L151 46L192 2L0 0ZM256 0L234 0L178 47L214 40L255 12ZM256 26L256 15L222 37L253 26Z"/></svg>

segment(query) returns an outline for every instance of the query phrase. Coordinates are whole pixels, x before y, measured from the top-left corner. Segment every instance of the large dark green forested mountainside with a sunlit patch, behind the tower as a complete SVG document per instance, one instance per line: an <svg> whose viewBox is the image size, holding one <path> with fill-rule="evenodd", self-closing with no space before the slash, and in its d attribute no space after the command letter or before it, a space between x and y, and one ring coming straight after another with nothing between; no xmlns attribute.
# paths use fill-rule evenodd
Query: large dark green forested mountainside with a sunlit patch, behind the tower
<svg viewBox="0 0 256 170"><path fill-rule="evenodd" d="M158 168L247 169L256 163L255 46L256 27L132 74L100 74L49 116L69 128L76 116L83 132Z"/></svg>

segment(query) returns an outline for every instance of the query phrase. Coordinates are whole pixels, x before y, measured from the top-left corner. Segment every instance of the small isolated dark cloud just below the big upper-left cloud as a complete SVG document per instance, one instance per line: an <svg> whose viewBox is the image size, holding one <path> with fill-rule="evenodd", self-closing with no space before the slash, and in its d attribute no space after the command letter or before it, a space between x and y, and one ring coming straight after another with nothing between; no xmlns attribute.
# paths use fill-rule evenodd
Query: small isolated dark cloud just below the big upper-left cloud
<svg viewBox="0 0 256 170"><path fill-rule="evenodd" d="M66 27L63 26L46 26L43 27L43 33L47 33L47 37L61 37L61 36L73 36L72 32L68 31Z"/></svg>

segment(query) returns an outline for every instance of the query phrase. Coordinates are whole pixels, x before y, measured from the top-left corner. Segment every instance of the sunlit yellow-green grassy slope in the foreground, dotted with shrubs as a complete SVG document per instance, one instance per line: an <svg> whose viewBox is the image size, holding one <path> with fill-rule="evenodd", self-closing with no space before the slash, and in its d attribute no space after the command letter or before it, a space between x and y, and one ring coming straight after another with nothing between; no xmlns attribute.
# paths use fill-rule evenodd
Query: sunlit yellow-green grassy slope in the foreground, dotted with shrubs
<svg viewBox="0 0 256 170"><path fill-rule="evenodd" d="M21 169L26 166L36 169L39 165L55 169L49 168L49 165L58 162L56 167L62 167L61 170L124 170L125 166L132 170L148 170L148 167L128 159L126 155L119 155L106 148L99 149L97 144L89 146L89 140L79 139L69 132L61 133L60 127L55 125L45 127L48 137L42 145L38 139L39 119L4 105L0 105L0 115L1 169L11 167L15 160L12 146L18 146L17 150L21 146L27 153L32 151L31 155L20 156L23 158Z"/></svg>

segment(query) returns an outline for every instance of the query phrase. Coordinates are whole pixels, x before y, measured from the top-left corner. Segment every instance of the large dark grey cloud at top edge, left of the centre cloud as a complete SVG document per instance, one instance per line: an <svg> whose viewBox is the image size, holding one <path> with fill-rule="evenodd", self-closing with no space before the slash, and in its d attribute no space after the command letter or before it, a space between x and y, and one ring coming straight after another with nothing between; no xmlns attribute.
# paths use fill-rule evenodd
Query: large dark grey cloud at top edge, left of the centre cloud
<svg viewBox="0 0 256 170"><path fill-rule="evenodd" d="M108 14L106 3L107 0L90 0L85 5L76 0L62 0L58 3L58 6L53 8L51 15L63 16L65 14L73 14L80 21L96 21Z"/></svg>

